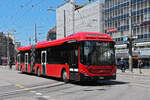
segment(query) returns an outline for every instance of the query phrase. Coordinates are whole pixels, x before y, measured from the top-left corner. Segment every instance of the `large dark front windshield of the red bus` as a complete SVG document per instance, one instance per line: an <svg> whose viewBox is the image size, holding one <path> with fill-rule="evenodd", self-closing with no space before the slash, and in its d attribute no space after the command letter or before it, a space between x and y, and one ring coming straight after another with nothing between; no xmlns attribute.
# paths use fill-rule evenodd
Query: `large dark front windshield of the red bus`
<svg viewBox="0 0 150 100"><path fill-rule="evenodd" d="M115 64L114 42L83 41L80 50L80 61L84 65Z"/></svg>

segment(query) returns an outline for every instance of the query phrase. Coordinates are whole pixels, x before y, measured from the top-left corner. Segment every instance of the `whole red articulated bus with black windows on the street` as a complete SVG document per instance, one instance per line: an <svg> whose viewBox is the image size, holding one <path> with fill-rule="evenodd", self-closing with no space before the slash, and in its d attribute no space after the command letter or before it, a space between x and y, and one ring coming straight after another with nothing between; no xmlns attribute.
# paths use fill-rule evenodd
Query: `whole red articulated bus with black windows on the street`
<svg viewBox="0 0 150 100"><path fill-rule="evenodd" d="M18 48L16 69L68 80L116 79L115 42L107 34L81 32Z"/></svg>

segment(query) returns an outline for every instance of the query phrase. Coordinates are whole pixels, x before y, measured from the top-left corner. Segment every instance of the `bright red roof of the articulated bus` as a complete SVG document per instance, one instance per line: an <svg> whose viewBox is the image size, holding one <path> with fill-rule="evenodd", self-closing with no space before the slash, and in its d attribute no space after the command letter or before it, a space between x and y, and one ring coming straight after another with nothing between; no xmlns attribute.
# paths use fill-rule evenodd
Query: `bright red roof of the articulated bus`
<svg viewBox="0 0 150 100"><path fill-rule="evenodd" d="M59 39L59 40L38 42L35 48L38 49L38 48L44 48L44 47L49 47L49 46L61 45L69 41L85 41L85 40L93 40L93 41L98 40L98 41L112 41L113 42L112 38L107 34L94 33L94 32L80 32L80 33L71 34L70 36L63 38L63 39ZM18 48L17 50L26 51L26 50L30 50L31 47L32 45L27 46L27 47L21 47L21 48Z"/></svg>

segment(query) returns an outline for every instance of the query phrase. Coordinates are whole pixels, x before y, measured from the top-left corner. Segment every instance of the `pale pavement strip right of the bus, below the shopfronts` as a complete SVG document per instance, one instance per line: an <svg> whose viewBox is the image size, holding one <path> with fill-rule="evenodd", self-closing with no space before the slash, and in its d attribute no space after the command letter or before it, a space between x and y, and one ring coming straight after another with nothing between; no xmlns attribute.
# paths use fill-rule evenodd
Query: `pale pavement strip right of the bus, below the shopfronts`
<svg viewBox="0 0 150 100"><path fill-rule="evenodd" d="M142 73L139 73L138 68L134 68L133 72L129 71L129 69L126 69L125 73L132 74L132 75L149 75L150 76L150 69L141 69ZM118 74L122 74L123 72L120 69L117 69Z"/></svg>

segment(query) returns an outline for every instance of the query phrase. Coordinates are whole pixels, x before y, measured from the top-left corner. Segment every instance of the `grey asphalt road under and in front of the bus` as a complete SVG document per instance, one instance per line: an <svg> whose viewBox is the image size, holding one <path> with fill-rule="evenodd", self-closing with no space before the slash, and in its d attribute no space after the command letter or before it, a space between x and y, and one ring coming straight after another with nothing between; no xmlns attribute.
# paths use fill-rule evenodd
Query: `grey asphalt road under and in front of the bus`
<svg viewBox="0 0 150 100"><path fill-rule="evenodd" d="M64 84L0 68L0 100L150 100L149 94L150 76L119 73L115 81Z"/></svg>

